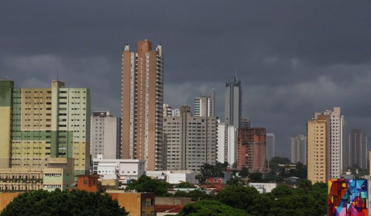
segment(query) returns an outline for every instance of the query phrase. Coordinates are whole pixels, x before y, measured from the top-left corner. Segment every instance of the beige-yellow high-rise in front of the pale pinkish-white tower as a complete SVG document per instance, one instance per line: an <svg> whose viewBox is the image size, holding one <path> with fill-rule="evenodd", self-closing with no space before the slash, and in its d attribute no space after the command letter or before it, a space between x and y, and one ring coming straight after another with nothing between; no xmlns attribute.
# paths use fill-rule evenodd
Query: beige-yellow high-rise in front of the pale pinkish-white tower
<svg viewBox="0 0 371 216"><path fill-rule="evenodd" d="M312 183L326 183L329 177L328 115L308 120L308 179Z"/></svg>

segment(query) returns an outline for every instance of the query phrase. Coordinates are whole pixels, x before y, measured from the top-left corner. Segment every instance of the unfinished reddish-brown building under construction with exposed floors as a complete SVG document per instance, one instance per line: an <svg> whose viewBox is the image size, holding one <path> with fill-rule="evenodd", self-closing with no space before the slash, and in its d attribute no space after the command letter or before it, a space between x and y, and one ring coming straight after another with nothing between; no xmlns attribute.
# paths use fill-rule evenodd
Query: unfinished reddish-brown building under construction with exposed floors
<svg viewBox="0 0 371 216"><path fill-rule="evenodd" d="M263 127L238 129L237 167L250 172L264 170L266 129Z"/></svg>

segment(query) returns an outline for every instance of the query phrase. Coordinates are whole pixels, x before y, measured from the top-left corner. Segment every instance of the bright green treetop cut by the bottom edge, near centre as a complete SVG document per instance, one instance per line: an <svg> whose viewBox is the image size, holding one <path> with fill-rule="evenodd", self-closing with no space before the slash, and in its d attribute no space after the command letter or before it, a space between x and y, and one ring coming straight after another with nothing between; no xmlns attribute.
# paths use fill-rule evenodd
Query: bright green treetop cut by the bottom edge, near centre
<svg viewBox="0 0 371 216"><path fill-rule="evenodd" d="M216 200L202 200L188 203L178 216L250 216L242 209L234 209Z"/></svg>

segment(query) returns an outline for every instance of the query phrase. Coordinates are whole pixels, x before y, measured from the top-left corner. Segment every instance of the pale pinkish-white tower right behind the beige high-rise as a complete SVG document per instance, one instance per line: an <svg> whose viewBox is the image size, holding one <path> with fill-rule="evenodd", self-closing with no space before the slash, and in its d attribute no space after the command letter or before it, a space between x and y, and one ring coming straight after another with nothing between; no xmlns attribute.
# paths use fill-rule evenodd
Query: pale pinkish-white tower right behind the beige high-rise
<svg viewBox="0 0 371 216"><path fill-rule="evenodd" d="M314 113L314 119L318 119L318 116L328 116L329 177L339 178L343 170L344 116L340 112L340 107Z"/></svg>

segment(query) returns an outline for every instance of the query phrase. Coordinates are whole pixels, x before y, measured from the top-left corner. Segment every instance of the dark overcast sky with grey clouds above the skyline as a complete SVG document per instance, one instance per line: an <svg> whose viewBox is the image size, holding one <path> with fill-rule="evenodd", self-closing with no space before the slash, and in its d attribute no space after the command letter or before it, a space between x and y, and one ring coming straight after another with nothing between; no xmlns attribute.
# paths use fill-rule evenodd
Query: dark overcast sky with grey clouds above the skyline
<svg viewBox="0 0 371 216"><path fill-rule="evenodd" d="M341 106L347 128L371 134L370 1L0 1L0 76L17 87L88 87L92 111L120 114L121 53L162 44L164 102L193 107L242 82L244 116L290 137L313 112Z"/></svg>

